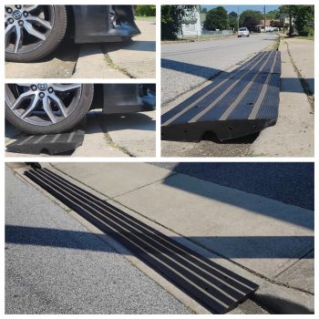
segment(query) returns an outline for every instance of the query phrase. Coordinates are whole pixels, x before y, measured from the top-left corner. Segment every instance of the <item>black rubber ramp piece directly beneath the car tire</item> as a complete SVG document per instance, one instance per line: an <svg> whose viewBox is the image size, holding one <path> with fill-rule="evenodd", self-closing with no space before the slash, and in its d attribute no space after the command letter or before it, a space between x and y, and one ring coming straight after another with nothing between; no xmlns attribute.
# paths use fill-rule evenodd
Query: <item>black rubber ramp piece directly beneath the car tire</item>
<svg viewBox="0 0 319 319"><path fill-rule="evenodd" d="M13 153L61 154L77 149L82 145L85 131L77 129L70 133L51 135L27 135L6 146Z"/></svg>

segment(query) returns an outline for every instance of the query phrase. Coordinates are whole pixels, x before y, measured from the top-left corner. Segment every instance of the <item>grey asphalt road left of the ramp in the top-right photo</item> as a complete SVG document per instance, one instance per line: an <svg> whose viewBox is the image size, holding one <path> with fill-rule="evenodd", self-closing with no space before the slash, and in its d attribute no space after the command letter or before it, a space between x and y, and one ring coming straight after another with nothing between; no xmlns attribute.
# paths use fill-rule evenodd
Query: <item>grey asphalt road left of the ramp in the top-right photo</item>
<svg viewBox="0 0 319 319"><path fill-rule="evenodd" d="M161 46L162 105L198 87L265 47L274 44L276 35L256 34L211 41L164 44Z"/></svg>

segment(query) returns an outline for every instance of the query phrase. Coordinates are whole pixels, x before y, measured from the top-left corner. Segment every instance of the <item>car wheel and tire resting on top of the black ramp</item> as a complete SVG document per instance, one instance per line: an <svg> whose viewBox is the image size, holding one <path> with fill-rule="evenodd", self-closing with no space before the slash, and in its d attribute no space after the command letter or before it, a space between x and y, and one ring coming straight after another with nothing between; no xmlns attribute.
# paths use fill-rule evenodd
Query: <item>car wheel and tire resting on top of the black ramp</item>
<svg viewBox="0 0 319 319"><path fill-rule="evenodd" d="M16 88L15 86L18 87ZM50 100L49 109L51 110L48 113L51 113L52 116L54 114L53 109L55 109L55 113L59 115L55 118L57 121L54 122L49 116L46 117L46 111L44 110L44 101L46 97L42 99L39 98L41 91L32 91L31 89L26 90L25 88L25 91L29 92L27 94L32 94L33 97L33 99L31 98L30 102L27 103L28 98L21 99L21 96L25 94L25 91L22 91L21 94L16 93L17 89L21 90L20 86L21 85L15 84L5 85L5 118L13 126L15 126L15 128L25 131L29 134L55 134L74 128L83 118L86 117L87 111L91 107L94 94L93 84L75 84L74 87L80 86L77 88L77 92L74 92L74 89L70 90L69 92L55 91L56 97L62 101L64 107L67 109L67 113L66 116L62 115L62 111L55 102L55 99L51 97L47 98ZM26 85L23 86L26 87ZM72 85L52 84L49 86L70 87ZM65 89L65 87L63 87L63 89ZM38 98L36 107L33 111L29 112L27 117L23 117L24 111L26 112L26 109L31 108L33 105L33 100L35 100L36 97ZM63 99L63 97L65 97L65 99ZM20 106L19 104L15 103L18 98L21 99ZM69 102L69 104L67 104L66 101ZM17 106L15 107L15 105Z"/></svg>

